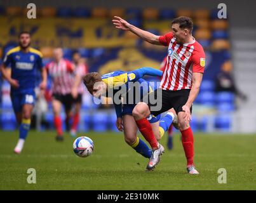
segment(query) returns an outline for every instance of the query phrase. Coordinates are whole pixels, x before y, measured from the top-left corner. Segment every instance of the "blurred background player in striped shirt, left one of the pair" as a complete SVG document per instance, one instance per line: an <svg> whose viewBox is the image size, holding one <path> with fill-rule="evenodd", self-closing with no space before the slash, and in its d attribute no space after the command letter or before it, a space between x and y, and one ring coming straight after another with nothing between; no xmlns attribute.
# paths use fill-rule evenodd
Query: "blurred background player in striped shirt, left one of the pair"
<svg viewBox="0 0 256 203"><path fill-rule="evenodd" d="M73 104L73 97L71 95L71 89L73 87L73 73L74 66L69 60L63 58L62 48L56 48L53 50L53 62L46 65L47 73L51 77L51 94L52 105L54 114L54 125L57 129L57 141L63 141L62 119L60 112L62 105L65 109L65 124L67 131L69 131L69 121L72 117L71 108Z"/></svg>

